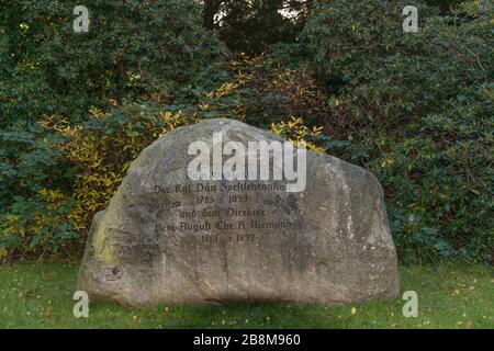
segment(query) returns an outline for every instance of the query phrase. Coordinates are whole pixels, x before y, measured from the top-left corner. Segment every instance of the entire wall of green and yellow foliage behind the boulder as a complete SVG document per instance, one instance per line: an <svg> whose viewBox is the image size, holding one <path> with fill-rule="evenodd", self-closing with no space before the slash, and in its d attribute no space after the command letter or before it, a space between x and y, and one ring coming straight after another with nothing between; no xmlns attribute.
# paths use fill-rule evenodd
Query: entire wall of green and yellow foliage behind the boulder
<svg viewBox="0 0 494 351"><path fill-rule="evenodd" d="M402 262L492 260L492 2L406 4L0 1L0 259L78 259L143 148L228 117L375 173Z"/></svg>

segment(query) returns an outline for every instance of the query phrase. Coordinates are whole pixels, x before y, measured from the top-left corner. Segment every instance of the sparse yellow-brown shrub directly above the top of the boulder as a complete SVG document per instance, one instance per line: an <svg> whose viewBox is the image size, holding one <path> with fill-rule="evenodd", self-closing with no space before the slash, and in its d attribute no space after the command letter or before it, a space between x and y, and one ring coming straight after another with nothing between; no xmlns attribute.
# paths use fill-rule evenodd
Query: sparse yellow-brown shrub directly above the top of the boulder
<svg viewBox="0 0 494 351"><path fill-rule="evenodd" d="M266 56L237 56L229 61L229 79L200 98L201 117L231 117L269 128L300 117L318 127L328 109L327 95L303 67L285 67Z"/></svg>

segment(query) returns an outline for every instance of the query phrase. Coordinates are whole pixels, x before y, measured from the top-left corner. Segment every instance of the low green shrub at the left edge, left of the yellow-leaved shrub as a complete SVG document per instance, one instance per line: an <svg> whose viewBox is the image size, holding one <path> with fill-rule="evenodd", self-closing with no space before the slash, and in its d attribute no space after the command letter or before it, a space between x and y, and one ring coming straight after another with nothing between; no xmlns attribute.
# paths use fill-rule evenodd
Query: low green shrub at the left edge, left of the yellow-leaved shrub
<svg viewBox="0 0 494 351"><path fill-rule="evenodd" d="M20 122L0 131L0 258L57 252L77 237L67 217L70 168L57 149L64 138Z"/></svg>

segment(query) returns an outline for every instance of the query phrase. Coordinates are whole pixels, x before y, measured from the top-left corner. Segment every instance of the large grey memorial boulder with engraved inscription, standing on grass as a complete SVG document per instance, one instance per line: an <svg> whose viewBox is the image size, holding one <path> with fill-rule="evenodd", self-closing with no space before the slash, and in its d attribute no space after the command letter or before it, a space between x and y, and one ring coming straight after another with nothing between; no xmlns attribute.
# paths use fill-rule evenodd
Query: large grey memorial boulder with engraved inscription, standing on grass
<svg viewBox="0 0 494 351"><path fill-rule="evenodd" d="M212 144L220 132L223 143L279 140L231 120L156 140L94 216L78 290L130 306L397 295L383 191L370 172L307 151L306 188L297 193L284 181L190 180L189 144Z"/></svg>

